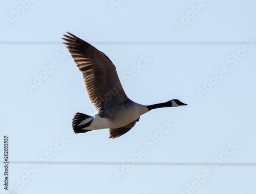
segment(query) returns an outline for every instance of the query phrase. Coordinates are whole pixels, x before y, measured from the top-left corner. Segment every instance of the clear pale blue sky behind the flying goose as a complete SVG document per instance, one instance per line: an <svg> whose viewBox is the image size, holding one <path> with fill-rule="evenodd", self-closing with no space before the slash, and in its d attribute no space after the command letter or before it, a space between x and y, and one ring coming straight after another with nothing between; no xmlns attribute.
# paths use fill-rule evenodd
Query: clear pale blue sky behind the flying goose
<svg viewBox="0 0 256 194"><path fill-rule="evenodd" d="M28 2L0 8L0 161L7 135L9 189L255 190L254 1ZM152 110L117 139L107 129L73 133L74 114L96 110L62 44L66 31L112 60L131 100L188 106ZM143 57L150 60L140 67ZM2 185L0 193L15 192Z"/></svg>

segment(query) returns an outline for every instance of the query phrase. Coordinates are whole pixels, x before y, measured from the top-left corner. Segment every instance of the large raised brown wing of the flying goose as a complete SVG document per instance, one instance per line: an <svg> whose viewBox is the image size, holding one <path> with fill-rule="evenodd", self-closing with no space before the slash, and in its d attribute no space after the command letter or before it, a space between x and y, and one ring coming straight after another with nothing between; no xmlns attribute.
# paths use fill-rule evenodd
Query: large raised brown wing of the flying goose
<svg viewBox="0 0 256 194"><path fill-rule="evenodd" d="M68 32L67 32L68 33ZM68 33L62 38L82 71L91 102L97 110L129 100L118 78L116 67L102 52L86 41Z"/></svg>

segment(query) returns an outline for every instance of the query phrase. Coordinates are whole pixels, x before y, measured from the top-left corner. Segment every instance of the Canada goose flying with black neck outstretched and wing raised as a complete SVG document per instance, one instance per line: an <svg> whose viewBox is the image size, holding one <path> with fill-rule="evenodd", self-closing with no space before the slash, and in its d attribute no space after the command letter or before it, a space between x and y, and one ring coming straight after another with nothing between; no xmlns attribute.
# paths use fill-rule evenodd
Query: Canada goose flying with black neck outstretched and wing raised
<svg viewBox="0 0 256 194"><path fill-rule="evenodd" d="M98 110L92 116L76 113L72 122L75 133L110 129L109 138L116 138L132 129L140 115L152 109L187 105L177 99L148 106L131 101L126 96L116 67L109 57L88 42L68 34L62 38L66 41L63 43L67 45L77 67L82 71L89 98Z"/></svg>

